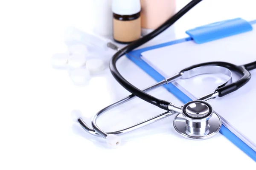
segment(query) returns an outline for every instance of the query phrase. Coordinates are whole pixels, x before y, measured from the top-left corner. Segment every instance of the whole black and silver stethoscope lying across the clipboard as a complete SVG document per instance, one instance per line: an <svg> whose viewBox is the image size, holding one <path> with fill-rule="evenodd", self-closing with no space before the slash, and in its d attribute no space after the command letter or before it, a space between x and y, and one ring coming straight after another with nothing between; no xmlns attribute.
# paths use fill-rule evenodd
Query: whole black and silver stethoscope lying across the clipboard
<svg viewBox="0 0 256 170"><path fill-rule="evenodd" d="M130 96L125 97L124 99L119 100L118 102L109 105L108 107L102 109L98 113L96 113L92 118L92 127L91 129L81 118L78 118L77 121L88 133L94 136L102 136L106 139L106 142L113 148L118 147L121 143L121 139L119 138L119 134L128 133L133 130L136 130L145 125L149 125L158 120L164 119L168 116L174 115L175 119L173 121L173 126L178 134L187 138L187 139L208 139L214 136L221 128L221 118L216 114L211 105L207 103L209 99L214 99L217 96L222 97L227 94L232 93L233 91L238 90L243 85L245 85L250 80L250 70L256 68L256 61L245 64L245 65L234 65L228 62L206 62L197 65L192 65L188 68L181 70L179 73L174 74L172 77L167 79L163 79L162 81L144 89L141 91L136 88L134 85L125 80L119 71L116 68L117 60L122 57L124 54L127 54L129 51L134 48L139 47L140 45L148 42L152 38L156 37L158 34L163 32L166 28L175 23L180 17L183 16L189 9L198 4L201 0L192 0L189 4L187 4L184 8L182 8L177 14L167 20L162 26L146 35L145 37L132 42L127 45L125 48L117 51L116 54L111 59L110 62L110 70L113 77L129 92L132 94ZM172 63L170 63L172 65ZM232 72L241 75L241 78L236 82L232 82ZM229 77L228 81L224 84L218 86L212 93L202 96L194 101L188 102L183 106L176 106L171 102L157 99L154 96L147 94L146 92L153 90L154 88L160 87L161 85L166 85L170 82L174 82L177 79L189 79L191 77L195 77L202 74L225 74ZM151 103L159 108L166 110L165 113L154 116L150 119L147 119L143 122L140 122L131 127L127 127L122 130L117 130L114 132L105 132L98 127L96 124L96 120L100 115L105 113L106 111L115 108L118 105L121 105L125 102L128 102L134 97L137 96L140 99L145 100L146 102Z"/></svg>

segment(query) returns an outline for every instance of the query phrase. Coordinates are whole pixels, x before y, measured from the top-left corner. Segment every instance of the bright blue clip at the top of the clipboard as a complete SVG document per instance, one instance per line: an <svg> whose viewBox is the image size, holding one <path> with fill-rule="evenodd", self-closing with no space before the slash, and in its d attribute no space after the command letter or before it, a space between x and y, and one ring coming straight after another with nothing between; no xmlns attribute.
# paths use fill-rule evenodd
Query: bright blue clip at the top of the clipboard
<svg viewBox="0 0 256 170"><path fill-rule="evenodd" d="M202 44L251 31L252 29L253 27L246 20L236 18L193 28L186 31L186 34L192 37L197 44Z"/></svg>

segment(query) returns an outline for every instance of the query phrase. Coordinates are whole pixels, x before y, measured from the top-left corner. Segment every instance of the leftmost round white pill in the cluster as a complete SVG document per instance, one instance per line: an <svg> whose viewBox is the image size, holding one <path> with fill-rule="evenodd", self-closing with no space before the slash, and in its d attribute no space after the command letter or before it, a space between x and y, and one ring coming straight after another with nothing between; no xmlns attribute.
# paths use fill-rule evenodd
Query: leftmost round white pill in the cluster
<svg viewBox="0 0 256 170"><path fill-rule="evenodd" d="M67 68L67 53L57 53L52 55L52 67L53 68Z"/></svg>

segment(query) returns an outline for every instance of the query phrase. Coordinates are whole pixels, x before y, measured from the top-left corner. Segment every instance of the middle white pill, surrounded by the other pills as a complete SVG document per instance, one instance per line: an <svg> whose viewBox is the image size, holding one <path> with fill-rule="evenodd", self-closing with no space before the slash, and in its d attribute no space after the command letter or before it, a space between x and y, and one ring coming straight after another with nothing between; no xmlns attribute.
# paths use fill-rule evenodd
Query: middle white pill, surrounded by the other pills
<svg viewBox="0 0 256 170"><path fill-rule="evenodd" d="M86 57L81 54L72 54L67 58L69 68L79 68L86 63Z"/></svg>

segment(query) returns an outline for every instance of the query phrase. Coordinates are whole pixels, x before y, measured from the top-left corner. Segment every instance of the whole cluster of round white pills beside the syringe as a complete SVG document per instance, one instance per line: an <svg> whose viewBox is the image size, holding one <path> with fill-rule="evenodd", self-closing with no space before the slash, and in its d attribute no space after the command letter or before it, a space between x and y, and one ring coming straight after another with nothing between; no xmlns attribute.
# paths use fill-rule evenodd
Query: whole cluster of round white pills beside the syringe
<svg viewBox="0 0 256 170"><path fill-rule="evenodd" d="M75 85L87 85L91 75L98 74L107 68L105 61L97 58L96 53L90 53L86 45L71 45L68 50L67 53L52 55L52 67L67 69Z"/></svg>

